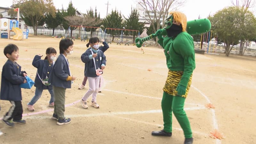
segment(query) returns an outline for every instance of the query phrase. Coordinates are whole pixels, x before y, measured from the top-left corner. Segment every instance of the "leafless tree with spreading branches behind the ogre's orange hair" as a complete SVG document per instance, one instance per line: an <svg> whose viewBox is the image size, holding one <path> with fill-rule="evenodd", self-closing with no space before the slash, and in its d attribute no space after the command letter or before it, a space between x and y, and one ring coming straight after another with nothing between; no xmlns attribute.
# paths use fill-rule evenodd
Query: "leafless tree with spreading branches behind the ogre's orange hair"
<svg viewBox="0 0 256 144"><path fill-rule="evenodd" d="M169 11L177 10L185 4L185 0L140 0L139 4L141 11L144 12L144 15L140 14L140 16L150 24L156 22L156 28L153 27L154 32L156 32L160 29L160 23L167 18ZM164 27L164 22L162 27Z"/></svg>

